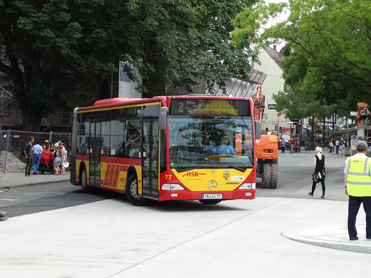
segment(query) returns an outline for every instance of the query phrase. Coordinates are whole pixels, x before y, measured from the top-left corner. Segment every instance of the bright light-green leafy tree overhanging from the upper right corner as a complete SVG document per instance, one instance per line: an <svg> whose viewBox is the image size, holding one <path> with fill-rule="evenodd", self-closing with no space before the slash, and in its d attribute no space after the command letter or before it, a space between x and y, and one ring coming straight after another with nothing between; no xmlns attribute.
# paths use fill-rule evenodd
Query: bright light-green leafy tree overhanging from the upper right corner
<svg viewBox="0 0 371 278"><path fill-rule="evenodd" d="M285 20L263 27L282 12L288 14ZM352 100L352 105L371 103L370 1L288 0L269 5L261 1L239 14L235 26L234 43L252 34L266 43L284 40L306 60L315 79L342 85L334 97Z"/></svg>

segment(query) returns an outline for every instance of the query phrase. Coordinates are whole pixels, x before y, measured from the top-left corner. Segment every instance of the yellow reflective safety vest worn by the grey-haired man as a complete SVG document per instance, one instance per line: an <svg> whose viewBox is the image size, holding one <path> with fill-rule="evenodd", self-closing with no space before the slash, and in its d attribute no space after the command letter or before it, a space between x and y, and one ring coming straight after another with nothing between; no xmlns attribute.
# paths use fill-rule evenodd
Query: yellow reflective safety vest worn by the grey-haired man
<svg viewBox="0 0 371 278"><path fill-rule="evenodd" d="M354 155L345 161L349 173L347 191L351 196L371 196L371 159L365 155Z"/></svg>

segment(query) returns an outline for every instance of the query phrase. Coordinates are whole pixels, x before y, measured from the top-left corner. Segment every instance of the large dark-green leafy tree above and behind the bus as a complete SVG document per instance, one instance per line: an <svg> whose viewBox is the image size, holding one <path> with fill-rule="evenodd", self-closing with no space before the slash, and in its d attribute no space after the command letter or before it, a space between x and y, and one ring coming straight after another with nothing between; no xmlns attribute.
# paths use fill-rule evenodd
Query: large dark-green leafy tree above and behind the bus
<svg viewBox="0 0 371 278"><path fill-rule="evenodd" d="M92 92L77 94L76 86L99 83L104 95L105 78L118 70L119 60L131 61L145 80L155 77L162 88L190 89L194 76L205 77L208 90L214 82L224 87L231 74L248 76L246 60L255 55L251 40L233 46L230 32L233 17L253 3L0 0L0 46L10 61L0 62L0 70L12 80L24 129L34 131L55 107L92 98Z"/></svg>

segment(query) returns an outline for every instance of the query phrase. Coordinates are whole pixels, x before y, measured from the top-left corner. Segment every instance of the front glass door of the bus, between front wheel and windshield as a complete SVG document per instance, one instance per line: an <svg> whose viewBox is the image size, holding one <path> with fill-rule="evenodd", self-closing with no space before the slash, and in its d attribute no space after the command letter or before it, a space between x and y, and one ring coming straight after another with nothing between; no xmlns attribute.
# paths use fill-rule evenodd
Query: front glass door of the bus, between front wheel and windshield
<svg viewBox="0 0 371 278"><path fill-rule="evenodd" d="M144 119L142 195L158 200L158 119Z"/></svg>

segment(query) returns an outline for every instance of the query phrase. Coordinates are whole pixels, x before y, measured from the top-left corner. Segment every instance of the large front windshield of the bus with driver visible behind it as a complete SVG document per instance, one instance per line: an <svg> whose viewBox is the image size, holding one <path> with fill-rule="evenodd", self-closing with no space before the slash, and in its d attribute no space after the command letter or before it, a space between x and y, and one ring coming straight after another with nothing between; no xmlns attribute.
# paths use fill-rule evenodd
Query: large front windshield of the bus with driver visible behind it
<svg viewBox="0 0 371 278"><path fill-rule="evenodd" d="M170 115L168 123L169 162L177 172L253 168L251 117Z"/></svg>

